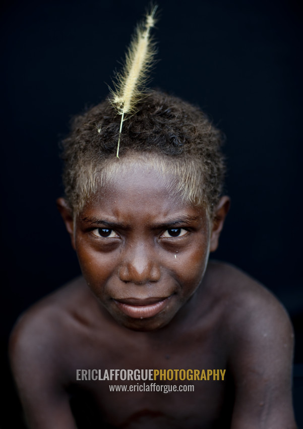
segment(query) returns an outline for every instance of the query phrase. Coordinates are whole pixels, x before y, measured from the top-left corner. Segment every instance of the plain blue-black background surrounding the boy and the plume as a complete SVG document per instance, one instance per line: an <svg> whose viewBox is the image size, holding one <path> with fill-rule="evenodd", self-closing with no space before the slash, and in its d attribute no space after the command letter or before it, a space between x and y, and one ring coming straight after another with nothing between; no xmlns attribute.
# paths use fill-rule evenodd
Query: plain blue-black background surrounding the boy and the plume
<svg viewBox="0 0 303 429"><path fill-rule="evenodd" d="M198 103L226 134L232 206L216 258L263 282L296 334L294 401L303 398L301 289L302 11L295 0L159 0L151 86ZM79 274L55 207L58 141L107 95L145 1L14 1L2 6L2 391L23 427L7 366L18 315ZM106 82L106 83L105 83Z"/></svg>

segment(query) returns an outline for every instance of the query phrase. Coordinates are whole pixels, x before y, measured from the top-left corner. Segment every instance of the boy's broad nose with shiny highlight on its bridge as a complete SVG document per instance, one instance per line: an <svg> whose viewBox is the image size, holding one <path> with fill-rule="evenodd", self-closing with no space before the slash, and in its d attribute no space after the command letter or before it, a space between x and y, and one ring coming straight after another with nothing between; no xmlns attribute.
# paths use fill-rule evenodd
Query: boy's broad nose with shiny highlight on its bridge
<svg viewBox="0 0 303 429"><path fill-rule="evenodd" d="M123 282L132 282L141 285L148 282L157 282L160 280L160 266L153 254L147 253L147 249L138 246L136 249L130 249L126 260L120 266L119 278Z"/></svg>

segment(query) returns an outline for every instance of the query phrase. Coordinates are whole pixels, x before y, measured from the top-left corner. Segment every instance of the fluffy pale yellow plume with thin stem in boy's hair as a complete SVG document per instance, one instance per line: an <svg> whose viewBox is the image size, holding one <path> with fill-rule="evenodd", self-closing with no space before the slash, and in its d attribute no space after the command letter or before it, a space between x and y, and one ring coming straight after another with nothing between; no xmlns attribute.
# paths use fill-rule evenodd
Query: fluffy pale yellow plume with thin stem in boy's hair
<svg viewBox="0 0 303 429"><path fill-rule="evenodd" d="M119 157L120 138L125 115L136 111L136 104L144 96L143 85L147 80L147 72L153 64L155 54L154 43L150 36L150 29L155 25L157 6L147 14L144 25L139 25L126 55L122 73L117 73L114 83L115 91L111 91L112 105L121 115L119 137L117 144L117 158Z"/></svg>

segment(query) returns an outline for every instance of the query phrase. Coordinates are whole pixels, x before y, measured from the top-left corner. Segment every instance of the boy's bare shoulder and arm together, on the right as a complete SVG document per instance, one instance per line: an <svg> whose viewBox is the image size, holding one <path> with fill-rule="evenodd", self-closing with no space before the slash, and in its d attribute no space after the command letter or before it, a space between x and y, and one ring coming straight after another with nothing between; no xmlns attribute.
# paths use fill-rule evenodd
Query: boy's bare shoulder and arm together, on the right
<svg viewBox="0 0 303 429"><path fill-rule="evenodd" d="M235 387L232 429L295 428L287 312L268 289L234 266L212 262L210 275Z"/></svg>

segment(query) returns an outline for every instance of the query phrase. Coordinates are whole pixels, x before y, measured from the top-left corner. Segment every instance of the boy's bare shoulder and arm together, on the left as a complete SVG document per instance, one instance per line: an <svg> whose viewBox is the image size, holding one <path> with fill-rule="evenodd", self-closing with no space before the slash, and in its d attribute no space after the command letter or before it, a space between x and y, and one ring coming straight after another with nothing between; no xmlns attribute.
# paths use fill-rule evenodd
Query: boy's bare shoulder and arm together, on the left
<svg viewBox="0 0 303 429"><path fill-rule="evenodd" d="M81 281L72 282L33 305L13 329L10 361L31 428L76 428L66 387L73 339L83 325L74 312L84 297Z"/></svg>

